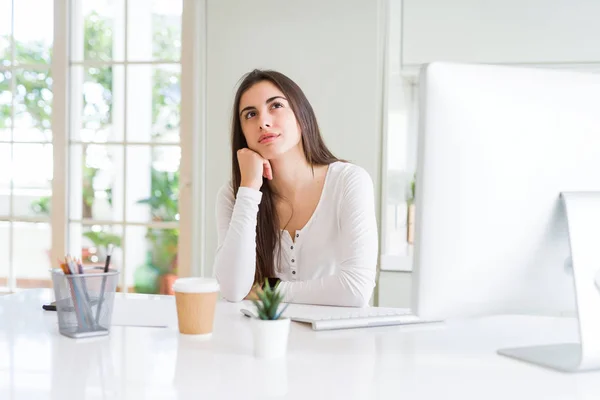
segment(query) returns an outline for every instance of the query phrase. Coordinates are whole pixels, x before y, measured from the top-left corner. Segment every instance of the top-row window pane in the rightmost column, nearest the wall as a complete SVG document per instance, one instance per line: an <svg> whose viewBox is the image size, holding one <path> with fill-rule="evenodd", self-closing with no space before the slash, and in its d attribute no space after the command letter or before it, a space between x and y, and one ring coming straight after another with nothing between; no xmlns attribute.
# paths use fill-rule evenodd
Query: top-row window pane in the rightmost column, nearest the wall
<svg viewBox="0 0 600 400"><path fill-rule="evenodd" d="M133 61L181 58L181 0L128 0L127 57Z"/></svg>

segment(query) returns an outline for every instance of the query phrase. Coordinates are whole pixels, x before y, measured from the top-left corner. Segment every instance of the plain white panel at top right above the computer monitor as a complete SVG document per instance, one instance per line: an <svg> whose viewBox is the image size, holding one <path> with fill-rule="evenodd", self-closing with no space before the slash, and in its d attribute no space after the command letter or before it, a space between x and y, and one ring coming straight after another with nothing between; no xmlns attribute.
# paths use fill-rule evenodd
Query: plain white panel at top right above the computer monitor
<svg viewBox="0 0 600 400"><path fill-rule="evenodd" d="M600 61L598 0L404 0L404 65Z"/></svg>

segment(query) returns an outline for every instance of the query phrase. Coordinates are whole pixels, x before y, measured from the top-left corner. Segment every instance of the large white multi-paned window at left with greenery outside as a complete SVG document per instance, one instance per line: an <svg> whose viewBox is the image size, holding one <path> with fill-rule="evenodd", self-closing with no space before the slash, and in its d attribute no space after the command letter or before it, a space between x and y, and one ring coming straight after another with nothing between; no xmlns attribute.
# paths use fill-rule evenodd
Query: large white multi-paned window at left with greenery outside
<svg viewBox="0 0 600 400"><path fill-rule="evenodd" d="M0 288L51 287L63 248L112 244L124 291L177 272L183 2L0 0Z"/></svg>

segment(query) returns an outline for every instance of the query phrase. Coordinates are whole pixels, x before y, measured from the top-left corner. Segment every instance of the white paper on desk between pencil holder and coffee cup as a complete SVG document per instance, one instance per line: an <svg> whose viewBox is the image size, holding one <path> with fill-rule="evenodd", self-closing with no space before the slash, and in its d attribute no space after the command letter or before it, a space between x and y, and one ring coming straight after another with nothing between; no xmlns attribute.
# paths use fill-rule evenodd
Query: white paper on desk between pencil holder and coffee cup
<svg viewBox="0 0 600 400"><path fill-rule="evenodd" d="M159 295L117 294L112 326L167 328L177 326L175 297Z"/></svg>

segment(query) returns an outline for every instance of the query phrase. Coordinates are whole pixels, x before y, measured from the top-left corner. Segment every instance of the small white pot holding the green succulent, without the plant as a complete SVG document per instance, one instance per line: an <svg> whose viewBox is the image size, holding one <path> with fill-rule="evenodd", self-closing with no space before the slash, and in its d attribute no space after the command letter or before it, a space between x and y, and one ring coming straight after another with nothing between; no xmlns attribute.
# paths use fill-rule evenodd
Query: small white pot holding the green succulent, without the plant
<svg viewBox="0 0 600 400"><path fill-rule="evenodd" d="M290 319L262 320L252 318L254 355L258 358L279 358L287 352Z"/></svg>

